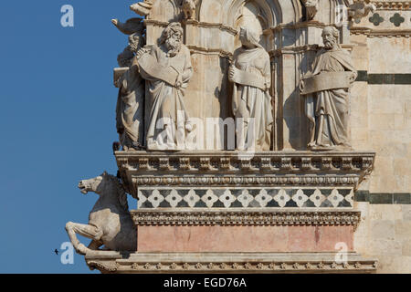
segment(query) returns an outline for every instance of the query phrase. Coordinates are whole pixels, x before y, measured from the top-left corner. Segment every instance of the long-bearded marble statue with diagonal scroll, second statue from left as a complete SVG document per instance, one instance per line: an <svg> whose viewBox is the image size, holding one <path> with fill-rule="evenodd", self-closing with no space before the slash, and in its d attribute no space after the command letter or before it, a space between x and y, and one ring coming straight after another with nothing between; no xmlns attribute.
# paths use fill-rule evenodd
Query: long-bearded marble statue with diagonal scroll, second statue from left
<svg viewBox="0 0 411 292"><path fill-rule="evenodd" d="M182 150L192 130L184 106L184 89L193 76L190 51L183 44L183 27L170 23L159 46L143 47L137 54L142 78L149 84L148 150Z"/></svg>

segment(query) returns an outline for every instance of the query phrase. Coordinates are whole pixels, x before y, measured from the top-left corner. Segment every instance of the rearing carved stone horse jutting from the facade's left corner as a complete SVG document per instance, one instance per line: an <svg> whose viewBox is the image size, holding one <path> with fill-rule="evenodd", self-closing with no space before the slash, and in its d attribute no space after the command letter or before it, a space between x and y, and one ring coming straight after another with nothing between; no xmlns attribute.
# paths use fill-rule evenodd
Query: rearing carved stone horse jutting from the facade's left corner
<svg viewBox="0 0 411 292"><path fill-rule="evenodd" d="M100 195L89 214L89 224L68 222L66 230L71 244L80 255L90 250L135 251L137 229L129 212L127 194L119 179L107 172L90 180L79 182L81 193L94 192ZM76 234L91 238L88 247L81 244Z"/></svg>

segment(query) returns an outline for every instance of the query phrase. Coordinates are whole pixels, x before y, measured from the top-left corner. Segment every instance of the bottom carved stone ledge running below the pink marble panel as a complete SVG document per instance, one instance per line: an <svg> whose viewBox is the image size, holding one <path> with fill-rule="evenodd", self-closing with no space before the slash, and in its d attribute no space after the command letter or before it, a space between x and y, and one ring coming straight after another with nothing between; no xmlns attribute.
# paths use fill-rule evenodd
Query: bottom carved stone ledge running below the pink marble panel
<svg viewBox="0 0 411 292"><path fill-rule="evenodd" d="M109 252L110 253L110 252ZM333 253L161 253L122 259L86 257L102 273L373 273L378 261L348 253L341 263ZM115 266L112 268L111 266Z"/></svg>

